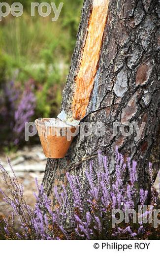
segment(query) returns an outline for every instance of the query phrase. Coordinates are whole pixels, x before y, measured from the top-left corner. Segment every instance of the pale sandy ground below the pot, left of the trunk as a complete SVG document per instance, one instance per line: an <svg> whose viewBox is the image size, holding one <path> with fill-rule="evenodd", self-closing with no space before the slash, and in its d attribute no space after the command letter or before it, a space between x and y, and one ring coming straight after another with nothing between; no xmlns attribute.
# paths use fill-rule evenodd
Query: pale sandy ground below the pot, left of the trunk
<svg viewBox="0 0 160 256"><path fill-rule="evenodd" d="M47 159L45 158L41 146L32 148L25 147L23 150L17 151L9 155L16 177L20 184L24 186L24 195L27 203L34 207L35 198L33 192L36 192L35 178L40 184L43 179L45 165ZM0 162L4 168L10 172L5 156L0 156ZM30 168L29 168L30 166ZM0 188L8 193L6 186L0 176ZM12 212L11 207L6 205L3 197L0 194L0 214L8 217Z"/></svg>

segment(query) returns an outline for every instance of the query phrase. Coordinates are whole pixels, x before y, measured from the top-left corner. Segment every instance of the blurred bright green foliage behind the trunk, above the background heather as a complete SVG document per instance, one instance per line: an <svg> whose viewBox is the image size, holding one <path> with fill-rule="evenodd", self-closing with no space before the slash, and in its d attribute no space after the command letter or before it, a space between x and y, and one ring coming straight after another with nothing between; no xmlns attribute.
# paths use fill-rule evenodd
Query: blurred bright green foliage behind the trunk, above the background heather
<svg viewBox="0 0 160 256"><path fill-rule="evenodd" d="M13 3L12 0L7 2L10 5ZM33 1L19 2L24 7L23 15L18 18L9 15L2 19L0 26L0 83L4 77L22 85L32 79L37 99L35 118L52 117L60 109L62 89L76 41L82 0L64 0L56 22L51 21L54 17L53 10L49 17L41 17L35 8L35 17L31 17ZM62 1L54 2L58 8Z"/></svg>

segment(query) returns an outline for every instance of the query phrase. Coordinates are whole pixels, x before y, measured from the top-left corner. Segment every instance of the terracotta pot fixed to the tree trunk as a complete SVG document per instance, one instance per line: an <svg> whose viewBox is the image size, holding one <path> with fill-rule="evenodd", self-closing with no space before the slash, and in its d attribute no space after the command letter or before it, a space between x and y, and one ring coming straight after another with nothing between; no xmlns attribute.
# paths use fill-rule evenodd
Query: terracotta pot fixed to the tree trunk
<svg viewBox="0 0 160 256"><path fill-rule="evenodd" d="M66 127L46 126L46 122L50 120L51 118L35 120L44 155L47 158L64 158L74 137L71 136L70 140L67 139ZM76 127L67 126L67 130L74 133Z"/></svg>

